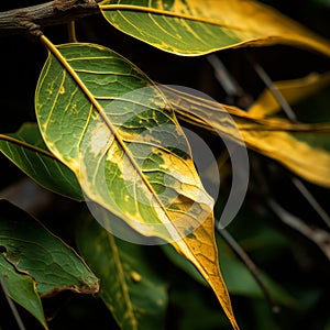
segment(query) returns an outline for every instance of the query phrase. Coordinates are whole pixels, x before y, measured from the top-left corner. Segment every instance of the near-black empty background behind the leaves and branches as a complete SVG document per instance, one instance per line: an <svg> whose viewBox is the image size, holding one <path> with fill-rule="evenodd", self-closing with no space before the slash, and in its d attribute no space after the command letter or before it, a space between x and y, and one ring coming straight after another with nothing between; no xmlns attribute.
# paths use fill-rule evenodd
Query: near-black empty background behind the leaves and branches
<svg viewBox="0 0 330 330"><path fill-rule="evenodd" d="M43 1L1 1L0 11L21 8ZM319 34L330 37L330 10L318 1L265 1L293 19L309 26ZM55 44L67 42L67 29L63 25L50 26L45 35ZM110 26L100 15L90 16L77 22L77 37L81 42L91 42L108 46L138 65L152 79L162 84L174 84L193 87L204 91L220 102L228 101L228 96L213 76L213 70L204 56L178 57L155 50L142 42ZM14 132L25 121L35 121L34 90L42 66L46 59L45 48L36 41L22 36L10 35L0 37L0 132ZM229 73L237 79L244 92L254 99L264 85L255 74L246 54L253 55L276 80L304 77L311 72L324 73L330 69L329 58L306 50L289 46L270 46L258 48L239 48L218 52L217 56L227 66ZM232 102L239 102L233 100ZM326 98L329 101L329 97ZM328 102L329 105L330 102ZM327 106L324 105L324 108ZM312 111L312 109L310 109ZM312 114L311 114L312 116ZM201 132L215 153L219 141ZM265 244L264 250L254 250L243 244L246 252L256 264L271 274L283 287L302 301L301 310L283 309L278 317L270 311L265 300L233 296L232 302L242 329L330 329L329 315L329 276L330 267L322 252L308 239L283 224L265 205L265 198L271 196L280 205L308 223L327 229L318 215L290 183L292 174L280 165L250 152L251 179L250 189L243 210L230 231L240 242L253 241L256 232L265 235L271 232L285 238L285 244L274 242ZM24 175L0 155L0 189L8 188ZM305 183L323 208L329 210L329 190ZM263 187L263 189L261 189ZM81 206L59 196L52 196L52 207L43 209L40 217L46 226L64 238L72 245L70 221ZM249 215L249 216L248 216ZM270 230L271 229L271 230ZM277 244L278 243L278 244ZM176 294L180 290L196 292L201 297L207 309L212 315L217 312L217 301L212 294L200 287L185 273L163 261L164 267L170 270L173 280L173 300L169 306L166 329L182 329L178 319L194 319L194 304L183 307L178 304ZM186 301L183 301L186 304ZM102 302L89 296L77 296L64 293L57 297L44 300L51 329L116 329L116 324ZM38 324L24 310L19 309L28 329L37 329ZM210 317L207 315L205 317ZM200 315L200 318L204 318ZM197 321L196 321L197 322ZM272 322L272 323L270 323ZM0 328L14 329L14 321L4 298L0 299ZM111 324L111 326L109 326ZM194 329L197 328L198 322ZM276 326L277 324L277 326ZM191 326L189 326L191 327ZM267 327L267 328L264 328ZM328 327L328 328L326 328ZM193 328L190 328L193 329ZM216 328L205 328L216 329ZM224 328L223 328L224 329Z"/></svg>

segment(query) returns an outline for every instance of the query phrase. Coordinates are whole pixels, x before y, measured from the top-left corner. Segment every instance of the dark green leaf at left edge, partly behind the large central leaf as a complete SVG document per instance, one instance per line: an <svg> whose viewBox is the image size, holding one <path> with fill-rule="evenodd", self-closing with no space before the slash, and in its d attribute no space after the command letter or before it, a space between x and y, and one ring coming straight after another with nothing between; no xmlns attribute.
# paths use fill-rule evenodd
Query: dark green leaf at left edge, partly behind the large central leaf
<svg viewBox="0 0 330 330"><path fill-rule="evenodd" d="M76 176L47 150L35 123L24 123L14 134L0 134L0 151L41 186L82 200Z"/></svg>

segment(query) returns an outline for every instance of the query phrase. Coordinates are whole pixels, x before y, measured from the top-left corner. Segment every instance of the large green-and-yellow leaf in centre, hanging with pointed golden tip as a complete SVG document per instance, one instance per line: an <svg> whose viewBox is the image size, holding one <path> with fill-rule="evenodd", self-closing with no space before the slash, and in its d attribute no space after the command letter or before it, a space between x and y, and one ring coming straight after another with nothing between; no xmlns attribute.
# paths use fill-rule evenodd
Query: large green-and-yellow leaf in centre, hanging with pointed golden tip
<svg viewBox="0 0 330 330"><path fill-rule="evenodd" d="M36 89L36 116L50 150L76 173L92 201L184 254L238 329L219 271L213 201L163 95L106 47L55 48L42 41L56 55L50 55Z"/></svg>

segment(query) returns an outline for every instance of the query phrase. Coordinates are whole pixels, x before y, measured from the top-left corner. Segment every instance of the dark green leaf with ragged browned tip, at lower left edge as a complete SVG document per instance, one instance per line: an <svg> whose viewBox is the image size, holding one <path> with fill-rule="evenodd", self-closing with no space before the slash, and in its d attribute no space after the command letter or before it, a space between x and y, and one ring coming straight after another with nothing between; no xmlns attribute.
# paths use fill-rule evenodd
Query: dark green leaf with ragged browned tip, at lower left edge
<svg viewBox="0 0 330 330"><path fill-rule="evenodd" d="M3 256L19 272L35 279L41 296L65 289L98 292L98 278L72 248L9 201L0 199L0 210Z"/></svg>

